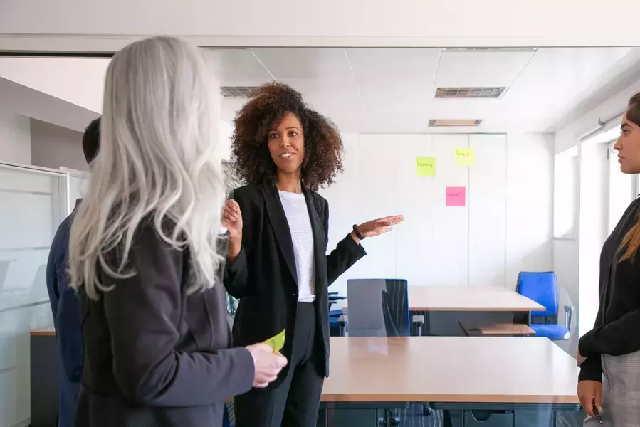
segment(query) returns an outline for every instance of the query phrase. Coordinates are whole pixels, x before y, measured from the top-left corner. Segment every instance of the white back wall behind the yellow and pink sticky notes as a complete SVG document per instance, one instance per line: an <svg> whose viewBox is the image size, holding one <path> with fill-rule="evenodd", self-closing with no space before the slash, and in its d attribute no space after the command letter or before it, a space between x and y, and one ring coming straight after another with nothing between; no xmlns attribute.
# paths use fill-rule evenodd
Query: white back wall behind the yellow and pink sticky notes
<svg viewBox="0 0 640 427"><path fill-rule="evenodd" d="M348 278L402 277L411 285L515 288L520 270L552 266L550 135L342 135L345 172L329 189L330 248L353 223L403 214L392 233L365 241ZM473 147L459 167L453 149ZM416 176L416 157L436 176ZM467 206L446 207L445 187L466 186Z"/></svg>

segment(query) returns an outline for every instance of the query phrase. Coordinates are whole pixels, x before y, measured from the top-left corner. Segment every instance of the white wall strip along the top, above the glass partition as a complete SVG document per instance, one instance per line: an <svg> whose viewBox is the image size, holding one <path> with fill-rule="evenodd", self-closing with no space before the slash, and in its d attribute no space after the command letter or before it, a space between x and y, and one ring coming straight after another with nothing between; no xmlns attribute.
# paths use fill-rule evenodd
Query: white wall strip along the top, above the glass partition
<svg viewBox="0 0 640 427"><path fill-rule="evenodd" d="M619 9L600 6L595 0L284 0L274 8L258 0L186 0L162 6L149 0L114 0L105 8L83 0L4 0L0 28L4 33L45 35L47 43L39 43L40 50L87 48L70 34L95 35L95 48L112 48L130 40L125 34L160 33L199 34L194 40L206 46L640 45L634 26L620 25ZM624 14L640 15L640 4L625 1ZM455 20L443 19L448 16ZM4 47L24 48L32 41L7 37Z"/></svg>

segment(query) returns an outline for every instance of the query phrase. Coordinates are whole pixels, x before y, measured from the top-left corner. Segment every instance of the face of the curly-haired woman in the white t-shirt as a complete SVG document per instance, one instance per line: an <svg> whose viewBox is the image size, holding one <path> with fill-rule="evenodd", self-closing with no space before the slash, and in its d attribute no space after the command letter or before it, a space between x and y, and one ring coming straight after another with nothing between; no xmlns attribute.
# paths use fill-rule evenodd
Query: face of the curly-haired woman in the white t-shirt
<svg viewBox="0 0 640 427"><path fill-rule="evenodd" d="M293 112L280 120L280 125L267 134L269 153L278 167L278 174L297 174L305 159L303 125Z"/></svg>

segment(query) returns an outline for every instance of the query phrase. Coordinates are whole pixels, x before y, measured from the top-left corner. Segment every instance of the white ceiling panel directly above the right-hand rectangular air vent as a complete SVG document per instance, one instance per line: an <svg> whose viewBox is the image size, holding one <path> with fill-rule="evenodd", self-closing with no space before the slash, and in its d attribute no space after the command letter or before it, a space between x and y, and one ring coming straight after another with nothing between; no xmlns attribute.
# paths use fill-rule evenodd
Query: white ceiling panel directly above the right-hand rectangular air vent
<svg viewBox="0 0 640 427"><path fill-rule="evenodd" d="M533 55L534 52L443 51L436 86L509 86Z"/></svg>

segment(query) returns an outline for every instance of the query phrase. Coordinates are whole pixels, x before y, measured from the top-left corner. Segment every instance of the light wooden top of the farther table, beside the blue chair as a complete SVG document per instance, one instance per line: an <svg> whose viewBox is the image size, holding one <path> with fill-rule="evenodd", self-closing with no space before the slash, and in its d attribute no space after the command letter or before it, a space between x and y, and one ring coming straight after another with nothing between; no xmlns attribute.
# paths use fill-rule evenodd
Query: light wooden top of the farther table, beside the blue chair
<svg viewBox="0 0 640 427"><path fill-rule="evenodd" d="M342 307L348 310L347 302ZM531 312L545 307L507 288L409 286L411 311Z"/></svg>

